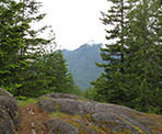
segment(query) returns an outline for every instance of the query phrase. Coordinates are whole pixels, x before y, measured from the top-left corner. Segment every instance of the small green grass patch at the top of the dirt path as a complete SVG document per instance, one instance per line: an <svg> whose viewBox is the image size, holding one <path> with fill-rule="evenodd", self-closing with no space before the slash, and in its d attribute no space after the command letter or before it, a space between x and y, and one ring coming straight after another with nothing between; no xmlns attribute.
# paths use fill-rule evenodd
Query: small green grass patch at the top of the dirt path
<svg viewBox="0 0 162 134"><path fill-rule="evenodd" d="M18 104L20 107L24 107L28 103L36 103L37 102L37 99L36 98L26 98L25 100L18 100Z"/></svg>

